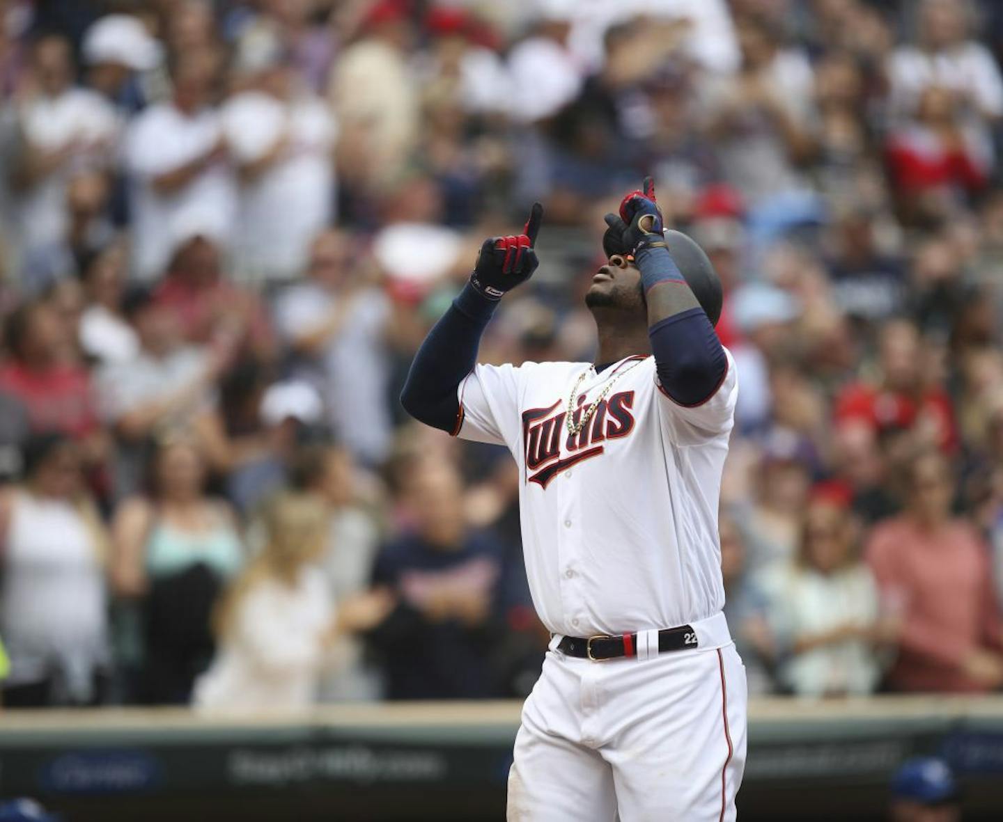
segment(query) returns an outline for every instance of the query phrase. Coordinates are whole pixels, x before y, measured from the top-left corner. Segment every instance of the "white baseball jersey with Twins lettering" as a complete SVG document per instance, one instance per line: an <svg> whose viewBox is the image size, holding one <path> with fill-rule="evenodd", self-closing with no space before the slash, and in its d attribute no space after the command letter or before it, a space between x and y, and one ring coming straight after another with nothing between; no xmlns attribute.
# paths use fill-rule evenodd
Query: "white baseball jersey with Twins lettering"
<svg viewBox="0 0 1003 822"><path fill-rule="evenodd" d="M717 507L738 385L727 355L705 402L676 403L653 357L478 365L460 383L457 434L508 446L522 473L534 604L554 634L672 628L724 604ZM582 374L585 379L576 383ZM567 427L616 381L578 435Z"/></svg>

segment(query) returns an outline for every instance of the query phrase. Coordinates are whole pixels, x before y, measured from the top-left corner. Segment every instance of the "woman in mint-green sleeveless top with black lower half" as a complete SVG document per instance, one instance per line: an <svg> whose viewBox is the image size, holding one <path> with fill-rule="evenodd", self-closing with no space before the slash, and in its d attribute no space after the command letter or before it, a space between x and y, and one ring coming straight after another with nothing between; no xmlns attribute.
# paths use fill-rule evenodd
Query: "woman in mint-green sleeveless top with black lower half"
<svg viewBox="0 0 1003 822"><path fill-rule="evenodd" d="M187 704L213 658L210 615L244 550L229 505L205 492L198 447L162 443L152 474L149 496L115 513L111 580L119 596L141 605L139 699Z"/></svg>

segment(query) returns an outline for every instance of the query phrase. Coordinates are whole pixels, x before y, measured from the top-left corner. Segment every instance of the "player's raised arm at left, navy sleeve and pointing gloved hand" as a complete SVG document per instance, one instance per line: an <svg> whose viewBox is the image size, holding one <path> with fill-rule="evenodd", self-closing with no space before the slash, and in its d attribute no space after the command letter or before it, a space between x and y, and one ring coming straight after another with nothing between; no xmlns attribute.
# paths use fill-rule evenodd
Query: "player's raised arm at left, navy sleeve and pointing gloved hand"
<svg viewBox="0 0 1003 822"><path fill-rule="evenodd" d="M534 203L523 234L485 240L470 282L428 332L411 363L400 402L425 425L455 434L461 421L456 390L477 360L480 336L501 297L529 280L544 207Z"/></svg>

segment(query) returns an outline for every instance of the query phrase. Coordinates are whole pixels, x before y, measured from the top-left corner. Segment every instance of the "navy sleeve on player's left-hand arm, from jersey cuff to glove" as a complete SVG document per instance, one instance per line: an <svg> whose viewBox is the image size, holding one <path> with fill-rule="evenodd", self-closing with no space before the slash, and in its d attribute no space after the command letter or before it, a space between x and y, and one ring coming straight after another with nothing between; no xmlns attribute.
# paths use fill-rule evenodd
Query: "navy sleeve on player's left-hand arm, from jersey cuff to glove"
<svg viewBox="0 0 1003 822"><path fill-rule="evenodd" d="M480 337L497 304L469 283L463 287L414 355L400 393L408 414L432 428L458 433L456 389L476 365Z"/></svg>

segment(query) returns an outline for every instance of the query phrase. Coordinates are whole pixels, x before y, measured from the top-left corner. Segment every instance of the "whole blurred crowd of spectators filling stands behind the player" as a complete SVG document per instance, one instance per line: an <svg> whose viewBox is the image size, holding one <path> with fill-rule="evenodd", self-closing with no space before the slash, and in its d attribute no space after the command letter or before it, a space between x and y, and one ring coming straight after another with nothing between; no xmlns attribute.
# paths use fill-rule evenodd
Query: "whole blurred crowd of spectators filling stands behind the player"
<svg viewBox="0 0 1003 822"><path fill-rule="evenodd" d="M3 702L527 694L518 472L397 396L535 199L480 359L591 360L649 172L752 692L1003 688L1001 56L990 0L0 0Z"/></svg>

